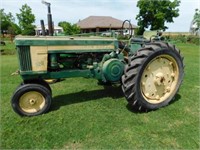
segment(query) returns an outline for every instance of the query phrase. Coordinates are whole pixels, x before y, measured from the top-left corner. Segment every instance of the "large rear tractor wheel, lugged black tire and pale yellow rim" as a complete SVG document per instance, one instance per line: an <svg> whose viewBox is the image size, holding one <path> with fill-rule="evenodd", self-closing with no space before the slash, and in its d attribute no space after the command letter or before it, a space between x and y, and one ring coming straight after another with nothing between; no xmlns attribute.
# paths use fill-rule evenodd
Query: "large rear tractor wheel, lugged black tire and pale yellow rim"
<svg viewBox="0 0 200 150"><path fill-rule="evenodd" d="M122 90L134 110L155 110L172 101L183 76L183 57L175 46L149 43L129 58Z"/></svg>

